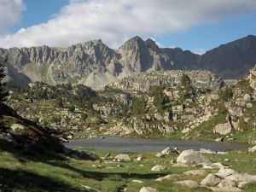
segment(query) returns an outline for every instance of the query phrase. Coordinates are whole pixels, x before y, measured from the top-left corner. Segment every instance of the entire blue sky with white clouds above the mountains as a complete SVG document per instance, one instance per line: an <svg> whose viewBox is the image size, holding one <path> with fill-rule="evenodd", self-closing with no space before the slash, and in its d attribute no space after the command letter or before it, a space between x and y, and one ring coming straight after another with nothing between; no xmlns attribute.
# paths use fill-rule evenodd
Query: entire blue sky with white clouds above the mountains
<svg viewBox="0 0 256 192"><path fill-rule="evenodd" d="M133 36L203 54L256 35L255 0L0 0L0 47L101 38L115 49Z"/></svg>

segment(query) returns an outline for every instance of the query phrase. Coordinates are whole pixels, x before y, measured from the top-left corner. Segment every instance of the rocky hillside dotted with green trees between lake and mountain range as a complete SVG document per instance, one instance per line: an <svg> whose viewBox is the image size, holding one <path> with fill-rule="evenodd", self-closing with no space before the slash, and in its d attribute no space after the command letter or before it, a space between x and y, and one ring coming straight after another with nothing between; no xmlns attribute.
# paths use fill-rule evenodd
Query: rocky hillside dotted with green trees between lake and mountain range
<svg viewBox="0 0 256 192"><path fill-rule="evenodd" d="M8 103L24 118L79 137L118 134L255 143L255 82L255 67L228 86L210 72L148 72L99 91L71 84L17 85L10 88Z"/></svg>

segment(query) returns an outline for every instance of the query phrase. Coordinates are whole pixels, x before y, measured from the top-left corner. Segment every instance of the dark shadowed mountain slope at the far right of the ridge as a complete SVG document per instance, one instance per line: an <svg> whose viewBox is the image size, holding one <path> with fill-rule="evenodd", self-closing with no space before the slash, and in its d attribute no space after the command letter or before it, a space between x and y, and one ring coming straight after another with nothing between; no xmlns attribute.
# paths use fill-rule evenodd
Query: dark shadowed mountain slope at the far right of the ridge
<svg viewBox="0 0 256 192"><path fill-rule="evenodd" d="M225 79L237 79L256 63L256 36L249 35L207 51L200 66Z"/></svg>

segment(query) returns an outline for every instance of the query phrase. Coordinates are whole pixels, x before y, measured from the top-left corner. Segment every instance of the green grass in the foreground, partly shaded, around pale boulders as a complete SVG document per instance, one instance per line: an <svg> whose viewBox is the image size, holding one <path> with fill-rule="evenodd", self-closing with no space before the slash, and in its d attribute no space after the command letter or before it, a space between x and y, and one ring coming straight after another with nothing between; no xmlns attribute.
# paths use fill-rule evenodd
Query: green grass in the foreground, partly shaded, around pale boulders
<svg viewBox="0 0 256 192"><path fill-rule="evenodd" d="M88 149L89 150L89 149ZM100 157L109 152L89 150ZM118 152L110 152L114 157ZM128 192L137 192L144 186L153 187L161 192L168 191L207 191L205 188L187 189L172 182L192 179L200 183L206 177L183 176L183 172L198 169L198 167L172 167L171 160L177 154L166 158L155 157L156 153L129 154L131 162L113 162L112 160L74 160L63 157L61 154L41 154L27 156L17 152L0 152L0 191L86 191L84 186L90 186L102 192L115 192L127 189ZM142 161L135 160L138 155ZM212 162L221 162L237 172L256 174L255 154L230 151L227 155L207 154ZM226 162L224 159L230 159ZM140 166L143 165L143 166ZM155 165L166 166L162 172L152 172ZM214 172L217 172L215 170ZM207 170L207 172L213 172ZM168 174L177 174L172 180L164 182L154 181L157 177ZM133 183L132 180L141 180L144 183ZM250 184L245 191L255 191L256 184Z"/></svg>

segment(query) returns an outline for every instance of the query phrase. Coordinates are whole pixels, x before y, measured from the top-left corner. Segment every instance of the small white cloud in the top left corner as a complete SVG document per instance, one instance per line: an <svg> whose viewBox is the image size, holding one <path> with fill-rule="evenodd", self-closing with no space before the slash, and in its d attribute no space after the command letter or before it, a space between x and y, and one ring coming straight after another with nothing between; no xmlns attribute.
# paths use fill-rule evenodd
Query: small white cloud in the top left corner
<svg viewBox="0 0 256 192"><path fill-rule="evenodd" d="M9 32L9 28L20 21L25 9L22 0L0 0L0 35Z"/></svg>

